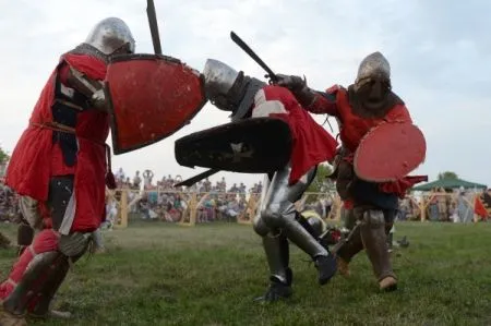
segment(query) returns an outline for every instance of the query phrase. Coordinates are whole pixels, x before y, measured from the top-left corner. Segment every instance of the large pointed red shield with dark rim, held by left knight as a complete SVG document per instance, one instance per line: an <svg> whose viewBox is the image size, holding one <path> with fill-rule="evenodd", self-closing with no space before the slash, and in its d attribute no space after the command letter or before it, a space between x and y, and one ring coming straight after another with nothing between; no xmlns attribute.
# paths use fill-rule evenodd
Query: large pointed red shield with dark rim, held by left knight
<svg viewBox="0 0 491 326"><path fill-rule="evenodd" d="M185 124L206 102L197 71L155 55L115 58L106 89L115 154L154 144Z"/></svg>

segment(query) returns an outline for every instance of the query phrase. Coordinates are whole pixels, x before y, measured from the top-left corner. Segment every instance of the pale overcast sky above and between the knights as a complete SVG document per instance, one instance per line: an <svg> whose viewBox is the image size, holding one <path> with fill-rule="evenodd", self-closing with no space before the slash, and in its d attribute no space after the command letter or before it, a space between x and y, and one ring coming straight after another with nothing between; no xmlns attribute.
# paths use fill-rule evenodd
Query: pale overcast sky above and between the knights
<svg viewBox="0 0 491 326"><path fill-rule="evenodd" d="M491 184L491 2L483 0L154 0L163 51L202 71L207 58L262 79L264 72L229 38L235 31L275 71L304 74L311 87L348 86L361 59L382 51L394 90L427 136L417 172L452 170ZM104 4L103 4L104 3ZM152 53L145 0L0 0L0 145L11 152L59 56L84 41L107 16L124 20L136 51ZM228 122L212 105L173 136L115 156L113 170L151 169L156 178L203 169L180 167L173 142ZM165 117L161 117L165 119ZM322 123L323 116L316 121ZM335 120L331 119L337 132ZM327 124L325 128L328 126ZM110 140L108 140L110 142ZM252 184L260 176L225 176Z"/></svg>

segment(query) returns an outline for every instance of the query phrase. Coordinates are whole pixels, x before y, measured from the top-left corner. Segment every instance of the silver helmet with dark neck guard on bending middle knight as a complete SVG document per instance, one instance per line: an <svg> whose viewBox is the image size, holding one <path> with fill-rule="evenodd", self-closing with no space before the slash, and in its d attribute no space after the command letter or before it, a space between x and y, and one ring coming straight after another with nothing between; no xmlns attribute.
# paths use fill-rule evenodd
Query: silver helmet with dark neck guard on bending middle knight
<svg viewBox="0 0 491 326"><path fill-rule="evenodd" d="M218 109L231 111L231 121L238 121L248 116L254 95L266 85L214 59L206 60L203 75L206 97Z"/></svg>

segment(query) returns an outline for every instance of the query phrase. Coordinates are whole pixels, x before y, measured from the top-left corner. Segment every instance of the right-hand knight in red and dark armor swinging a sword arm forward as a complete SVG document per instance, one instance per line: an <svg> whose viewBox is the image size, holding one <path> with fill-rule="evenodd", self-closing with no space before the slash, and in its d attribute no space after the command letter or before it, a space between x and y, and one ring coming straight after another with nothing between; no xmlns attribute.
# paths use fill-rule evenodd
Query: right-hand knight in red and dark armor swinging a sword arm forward
<svg viewBox="0 0 491 326"><path fill-rule="evenodd" d="M280 75L278 85L291 90L299 102L313 113L337 118L342 141L336 167L336 188L343 201L352 204L358 224L336 251L339 273L348 275L348 264L363 247L372 264L381 290L395 290L397 277L392 268L386 234L393 227L398 197L424 177L405 177L395 182L374 183L357 178L354 154L362 137L383 121L411 122L404 101L392 90L391 67L380 52L367 56L348 88L335 85L326 92L308 87L304 79Z"/></svg>

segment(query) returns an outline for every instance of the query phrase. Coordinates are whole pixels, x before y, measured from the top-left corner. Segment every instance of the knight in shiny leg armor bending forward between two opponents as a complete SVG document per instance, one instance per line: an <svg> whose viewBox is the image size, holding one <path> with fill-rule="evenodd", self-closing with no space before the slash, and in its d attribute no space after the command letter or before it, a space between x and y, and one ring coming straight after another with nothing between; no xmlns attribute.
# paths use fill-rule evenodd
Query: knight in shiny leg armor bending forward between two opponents
<svg viewBox="0 0 491 326"><path fill-rule="evenodd" d="M259 300L276 301L292 294L288 240L315 262L319 283L327 283L336 273L335 256L318 241L307 220L299 218L294 204L313 181L316 166L334 158L337 142L285 87L266 85L216 60L207 60L203 75L207 98L217 108L231 111L232 121L282 119L294 138L289 164L265 177L261 206L253 222L255 232L262 237L271 273L271 285Z"/></svg>

